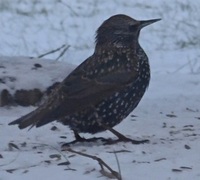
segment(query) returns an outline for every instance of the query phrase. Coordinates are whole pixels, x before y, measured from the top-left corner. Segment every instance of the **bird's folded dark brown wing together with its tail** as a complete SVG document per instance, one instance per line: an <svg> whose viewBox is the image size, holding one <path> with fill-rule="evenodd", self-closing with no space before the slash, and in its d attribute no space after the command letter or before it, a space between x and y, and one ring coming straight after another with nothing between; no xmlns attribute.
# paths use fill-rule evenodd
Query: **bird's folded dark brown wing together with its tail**
<svg viewBox="0 0 200 180"><path fill-rule="evenodd" d="M90 60L90 59L88 59ZM105 65L93 63L92 70ZM94 106L115 92L119 92L137 77L137 71L127 71L126 68L114 68L105 73L88 76L85 62L77 67L54 90L46 103L35 111L11 122L19 124L20 128L27 126L42 126L56 119Z"/></svg>

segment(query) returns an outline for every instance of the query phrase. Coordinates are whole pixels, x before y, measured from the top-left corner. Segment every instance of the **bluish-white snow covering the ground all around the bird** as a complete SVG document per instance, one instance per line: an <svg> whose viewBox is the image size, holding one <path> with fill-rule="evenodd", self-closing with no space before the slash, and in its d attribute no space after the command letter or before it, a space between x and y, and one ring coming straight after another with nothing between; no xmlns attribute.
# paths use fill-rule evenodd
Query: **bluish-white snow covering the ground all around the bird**
<svg viewBox="0 0 200 180"><path fill-rule="evenodd" d="M7 73L19 80L17 84L0 84L0 90L5 86L44 89L63 79L92 54L95 30L113 14L124 13L136 19L162 18L141 32L140 42L149 56L152 78L142 101L131 113L137 117L130 115L115 127L128 137L149 139L150 143L76 144L71 148L100 157L115 171L119 170L112 152L118 152L124 180L200 179L198 1L2 0L0 5L0 65L7 66ZM59 61L53 59L60 51L44 60L28 58L62 44L70 48ZM44 67L38 73L30 71L35 63ZM32 76L38 76L39 84L28 83ZM30 131L8 126L34 108L0 107L0 180L107 179L100 173L98 162L61 151L62 143L74 139L68 127L55 122ZM57 129L52 130L53 126ZM115 138L107 131L95 136ZM55 154L60 157L52 158ZM58 166L67 160L68 166Z"/></svg>

